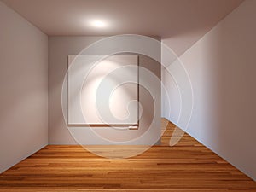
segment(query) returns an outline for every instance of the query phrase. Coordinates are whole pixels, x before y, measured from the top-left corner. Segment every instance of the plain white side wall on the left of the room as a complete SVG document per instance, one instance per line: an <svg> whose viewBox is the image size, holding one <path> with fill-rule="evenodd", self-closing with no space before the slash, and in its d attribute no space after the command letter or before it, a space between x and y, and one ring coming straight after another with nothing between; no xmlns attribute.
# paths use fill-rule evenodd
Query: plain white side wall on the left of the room
<svg viewBox="0 0 256 192"><path fill-rule="evenodd" d="M48 38L0 2L0 172L48 143Z"/></svg>

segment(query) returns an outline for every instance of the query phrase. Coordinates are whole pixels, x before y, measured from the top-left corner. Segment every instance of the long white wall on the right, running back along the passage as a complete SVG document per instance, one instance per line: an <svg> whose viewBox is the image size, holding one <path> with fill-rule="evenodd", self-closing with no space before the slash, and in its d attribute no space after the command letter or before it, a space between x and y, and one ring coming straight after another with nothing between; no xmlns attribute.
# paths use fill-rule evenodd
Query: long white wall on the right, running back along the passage
<svg viewBox="0 0 256 192"><path fill-rule="evenodd" d="M256 1L241 3L180 57L195 96L188 133L254 180L255 18ZM172 79L165 79L169 94L177 96ZM179 101L171 101L169 119L177 123Z"/></svg>

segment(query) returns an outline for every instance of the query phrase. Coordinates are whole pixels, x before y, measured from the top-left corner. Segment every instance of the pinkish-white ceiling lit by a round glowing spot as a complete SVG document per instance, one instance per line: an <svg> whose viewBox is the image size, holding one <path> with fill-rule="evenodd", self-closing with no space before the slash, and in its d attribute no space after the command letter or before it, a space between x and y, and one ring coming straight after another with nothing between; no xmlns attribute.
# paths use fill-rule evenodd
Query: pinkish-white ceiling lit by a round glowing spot
<svg viewBox="0 0 256 192"><path fill-rule="evenodd" d="M201 38L242 0L2 0L49 36L141 34ZM93 20L105 27L90 25ZM186 34L189 38L186 39ZM192 35L191 35L192 34ZM184 43L186 41L186 43ZM183 48L184 47L184 48ZM177 51L177 52L178 52Z"/></svg>

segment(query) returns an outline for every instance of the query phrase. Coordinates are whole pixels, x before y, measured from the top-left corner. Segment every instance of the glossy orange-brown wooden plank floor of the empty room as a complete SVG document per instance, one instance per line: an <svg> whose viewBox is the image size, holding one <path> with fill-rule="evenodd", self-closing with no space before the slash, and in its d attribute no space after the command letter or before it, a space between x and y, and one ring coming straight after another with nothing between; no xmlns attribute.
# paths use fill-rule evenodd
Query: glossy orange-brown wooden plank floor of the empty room
<svg viewBox="0 0 256 192"><path fill-rule="evenodd" d="M161 146L129 159L49 145L3 172L0 191L256 191L256 182L189 135L170 147L173 129L168 123Z"/></svg>

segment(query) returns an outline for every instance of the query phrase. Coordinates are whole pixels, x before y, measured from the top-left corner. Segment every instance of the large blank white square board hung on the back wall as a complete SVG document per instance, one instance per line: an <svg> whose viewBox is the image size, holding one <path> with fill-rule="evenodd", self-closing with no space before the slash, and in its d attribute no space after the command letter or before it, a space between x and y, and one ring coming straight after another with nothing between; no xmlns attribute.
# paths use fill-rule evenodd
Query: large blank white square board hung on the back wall
<svg viewBox="0 0 256 192"><path fill-rule="evenodd" d="M69 55L68 125L138 125L138 55Z"/></svg>

